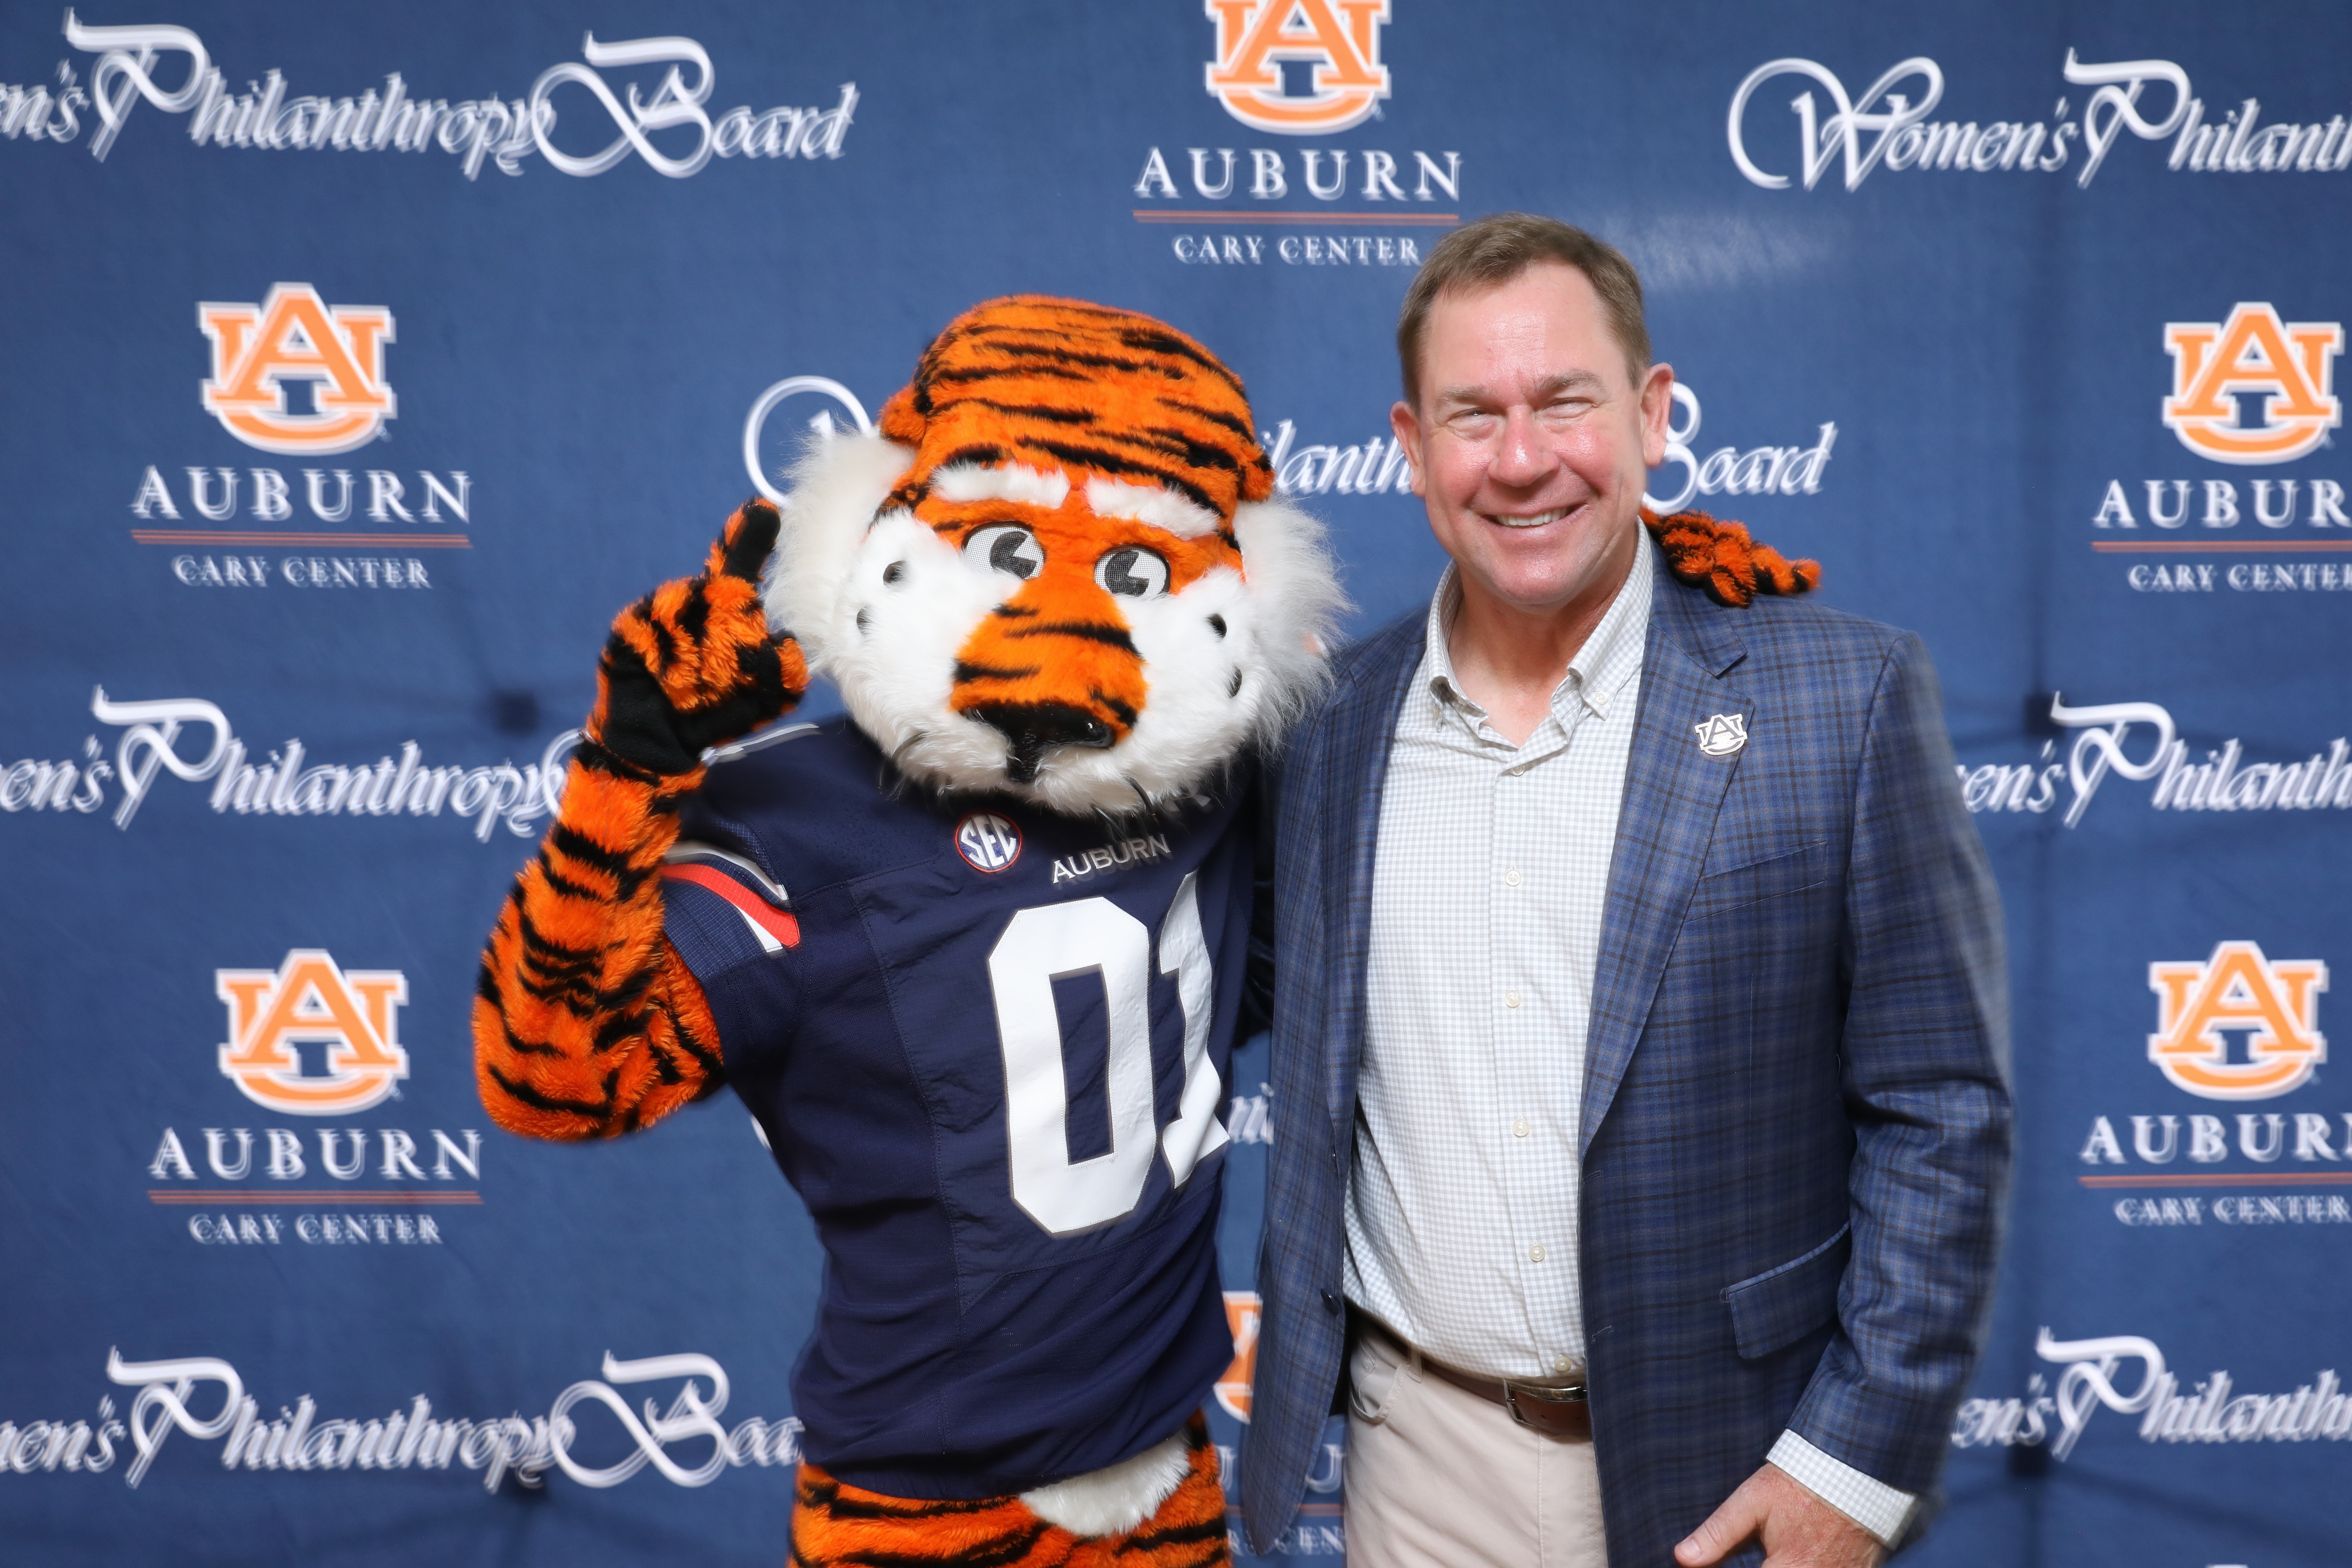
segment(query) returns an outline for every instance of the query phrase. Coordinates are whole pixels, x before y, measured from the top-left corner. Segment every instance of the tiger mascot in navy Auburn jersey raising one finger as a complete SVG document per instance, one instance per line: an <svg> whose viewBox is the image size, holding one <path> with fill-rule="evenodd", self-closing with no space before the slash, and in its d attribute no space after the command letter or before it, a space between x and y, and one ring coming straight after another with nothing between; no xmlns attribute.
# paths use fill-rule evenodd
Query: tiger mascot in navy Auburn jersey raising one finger
<svg viewBox="0 0 2352 1568"><path fill-rule="evenodd" d="M795 1563L1228 1561L1258 757L1338 607L1232 371L1018 296L614 623L475 1072L534 1138L757 1117L828 1260ZM811 672L844 719L736 741Z"/></svg>

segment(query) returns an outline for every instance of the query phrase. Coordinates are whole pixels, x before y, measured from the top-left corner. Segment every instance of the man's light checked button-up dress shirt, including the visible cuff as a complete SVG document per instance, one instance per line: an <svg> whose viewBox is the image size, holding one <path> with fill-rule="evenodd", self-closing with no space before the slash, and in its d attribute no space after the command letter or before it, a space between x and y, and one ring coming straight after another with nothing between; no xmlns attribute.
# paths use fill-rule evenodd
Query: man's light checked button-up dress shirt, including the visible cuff
<svg viewBox="0 0 2352 1568"><path fill-rule="evenodd" d="M1345 1291L1425 1356L1484 1378L1585 1361L1585 1027L1653 555L1639 529L1625 585L1524 745L1454 679L1461 585L1446 567L1388 752ZM1769 1458L1879 1540L1900 1537L1910 1493L1795 1432Z"/></svg>

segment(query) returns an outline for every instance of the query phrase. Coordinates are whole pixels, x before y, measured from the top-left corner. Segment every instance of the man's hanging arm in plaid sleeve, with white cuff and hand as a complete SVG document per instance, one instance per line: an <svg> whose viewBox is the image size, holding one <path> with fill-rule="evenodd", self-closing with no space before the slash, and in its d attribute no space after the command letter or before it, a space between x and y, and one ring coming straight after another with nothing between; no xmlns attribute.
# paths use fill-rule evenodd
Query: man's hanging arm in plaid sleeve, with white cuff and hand
<svg viewBox="0 0 2352 1568"><path fill-rule="evenodd" d="M1933 1483L1992 1302L2009 1175L2002 945L1936 672L1905 635L1879 670L1853 792L1839 954L1853 1260L1839 1331L1773 1448L1783 1465L1677 1547L1682 1563L1750 1535L1771 1568L1870 1563Z"/></svg>

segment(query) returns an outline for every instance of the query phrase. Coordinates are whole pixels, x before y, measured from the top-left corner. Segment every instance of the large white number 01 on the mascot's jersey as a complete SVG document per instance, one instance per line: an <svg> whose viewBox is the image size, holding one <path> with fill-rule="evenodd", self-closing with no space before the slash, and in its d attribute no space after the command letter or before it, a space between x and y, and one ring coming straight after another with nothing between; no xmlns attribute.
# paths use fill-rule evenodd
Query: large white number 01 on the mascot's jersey
<svg viewBox="0 0 2352 1568"><path fill-rule="evenodd" d="M1143 1201L1152 1150L1167 1154L1181 1187L1225 1147L1216 1119L1218 1084L1209 1060L1216 976L1200 931L1200 872L1188 872L1160 924L1160 973L1176 976L1183 1006L1183 1098L1152 1138L1150 931L1108 898L1021 910L988 954L1004 1044L1004 1112L1014 1201L1047 1234L1110 1225ZM1061 1072L1061 1013L1054 980L1101 973L1110 1018L1110 1152L1070 1159L1070 1086Z"/></svg>

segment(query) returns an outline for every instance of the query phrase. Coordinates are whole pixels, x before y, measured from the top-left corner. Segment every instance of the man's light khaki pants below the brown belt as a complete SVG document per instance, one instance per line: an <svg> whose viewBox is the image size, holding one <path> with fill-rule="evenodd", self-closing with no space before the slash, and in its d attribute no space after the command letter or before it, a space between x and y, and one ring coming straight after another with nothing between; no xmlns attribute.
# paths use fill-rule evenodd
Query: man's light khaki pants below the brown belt
<svg viewBox="0 0 2352 1568"><path fill-rule="evenodd" d="M1609 1568L1592 1443L1357 1335L1348 1410L1350 1568Z"/></svg>

